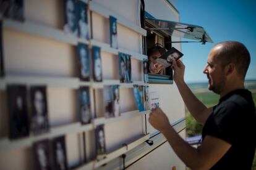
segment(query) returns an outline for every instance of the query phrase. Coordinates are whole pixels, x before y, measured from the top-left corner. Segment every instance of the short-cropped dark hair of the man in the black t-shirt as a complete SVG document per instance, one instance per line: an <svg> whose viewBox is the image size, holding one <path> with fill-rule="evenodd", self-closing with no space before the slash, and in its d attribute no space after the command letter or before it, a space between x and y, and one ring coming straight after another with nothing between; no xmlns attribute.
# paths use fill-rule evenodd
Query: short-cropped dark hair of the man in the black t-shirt
<svg viewBox="0 0 256 170"><path fill-rule="evenodd" d="M250 64L250 53L244 44L237 41L224 41L216 44L216 46L218 45L223 46L218 54L222 67L224 68L229 63L234 63L239 75L245 78Z"/></svg>

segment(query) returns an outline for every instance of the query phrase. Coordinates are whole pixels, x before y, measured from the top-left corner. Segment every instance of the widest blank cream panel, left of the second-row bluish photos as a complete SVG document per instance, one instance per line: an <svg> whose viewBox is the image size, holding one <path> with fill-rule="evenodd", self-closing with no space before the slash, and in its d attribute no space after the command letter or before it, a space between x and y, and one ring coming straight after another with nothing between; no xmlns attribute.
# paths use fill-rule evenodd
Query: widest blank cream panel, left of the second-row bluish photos
<svg viewBox="0 0 256 170"><path fill-rule="evenodd" d="M7 75L75 76L75 47L59 41L4 30Z"/></svg>

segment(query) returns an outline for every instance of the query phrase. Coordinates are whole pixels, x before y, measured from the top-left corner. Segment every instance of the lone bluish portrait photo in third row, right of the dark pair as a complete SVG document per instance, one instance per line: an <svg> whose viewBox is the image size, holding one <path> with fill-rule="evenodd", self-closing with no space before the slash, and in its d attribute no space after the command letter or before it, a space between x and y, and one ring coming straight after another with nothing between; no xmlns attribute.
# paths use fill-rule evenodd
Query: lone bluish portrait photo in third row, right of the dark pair
<svg viewBox="0 0 256 170"><path fill-rule="evenodd" d="M80 87L79 99L80 99L80 122L82 124L90 123L92 116L91 116L89 87Z"/></svg>

